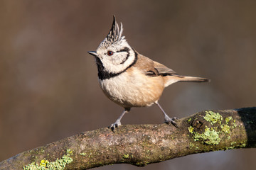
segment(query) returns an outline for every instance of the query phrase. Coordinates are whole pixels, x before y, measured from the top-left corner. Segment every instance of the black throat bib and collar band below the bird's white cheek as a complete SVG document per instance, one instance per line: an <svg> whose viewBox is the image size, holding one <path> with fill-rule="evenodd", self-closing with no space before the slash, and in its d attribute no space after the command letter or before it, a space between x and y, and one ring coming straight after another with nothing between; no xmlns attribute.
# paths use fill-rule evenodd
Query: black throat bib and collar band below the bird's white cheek
<svg viewBox="0 0 256 170"><path fill-rule="evenodd" d="M96 64L97 64L97 69L98 69L98 77L100 80L104 80L104 79L110 79L112 77L116 77L119 74L122 74L123 72L125 72L127 69L129 69L130 67L132 67L134 64L136 64L137 60L138 60L138 53L135 52L135 59L134 62L132 62L132 64L130 64L126 69L124 69L122 72L118 72L118 73L110 73L110 72L106 72L104 70L103 64L100 61L99 58L96 57Z"/></svg>

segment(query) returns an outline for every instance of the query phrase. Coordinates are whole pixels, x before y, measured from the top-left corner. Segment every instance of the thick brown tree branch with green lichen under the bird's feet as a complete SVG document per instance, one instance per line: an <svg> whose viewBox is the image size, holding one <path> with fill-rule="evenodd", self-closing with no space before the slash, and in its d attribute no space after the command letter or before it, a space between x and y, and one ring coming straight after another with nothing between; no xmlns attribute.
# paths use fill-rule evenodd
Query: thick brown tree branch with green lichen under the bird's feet
<svg viewBox="0 0 256 170"><path fill-rule="evenodd" d="M122 125L17 154L0 169L90 169L110 164L144 166L199 152L256 145L256 108L202 111L173 125Z"/></svg>

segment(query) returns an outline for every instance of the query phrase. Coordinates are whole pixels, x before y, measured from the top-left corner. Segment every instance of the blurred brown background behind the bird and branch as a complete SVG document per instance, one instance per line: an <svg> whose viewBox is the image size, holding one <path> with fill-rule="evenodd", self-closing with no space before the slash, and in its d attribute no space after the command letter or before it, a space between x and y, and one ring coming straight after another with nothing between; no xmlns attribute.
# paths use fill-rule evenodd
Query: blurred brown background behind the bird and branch
<svg viewBox="0 0 256 170"><path fill-rule="evenodd" d="M112 24L138 52L208 84L174 84L171 117L255 106L256 1L0 1L0 161L78 132L107 127L122 108L98 85L96 50ZM157 106L124 124L163 123ZM255 169L255 149L194 154L144 168Z"/></svg>

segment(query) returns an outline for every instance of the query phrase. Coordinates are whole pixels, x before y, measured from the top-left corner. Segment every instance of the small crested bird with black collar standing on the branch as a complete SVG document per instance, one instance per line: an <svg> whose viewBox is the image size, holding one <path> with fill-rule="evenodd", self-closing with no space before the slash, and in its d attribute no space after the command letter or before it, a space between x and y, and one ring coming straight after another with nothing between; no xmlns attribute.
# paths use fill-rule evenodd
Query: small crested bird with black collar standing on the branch
<svg viewBox="0 0 256 170"><path fill-rule="evenodd" d="M131 47L123 33L122 23L115 16L107 37L96 51L88 51L95 57L100 88L107 98L124 108L122 114L110 125L115 130L131 108L156 104L164 113L164 122L178 128L176 117L170 118L159 104L164 89L176 82L208 82L210 79L182 76L164 64L139 54Z"/></svg>

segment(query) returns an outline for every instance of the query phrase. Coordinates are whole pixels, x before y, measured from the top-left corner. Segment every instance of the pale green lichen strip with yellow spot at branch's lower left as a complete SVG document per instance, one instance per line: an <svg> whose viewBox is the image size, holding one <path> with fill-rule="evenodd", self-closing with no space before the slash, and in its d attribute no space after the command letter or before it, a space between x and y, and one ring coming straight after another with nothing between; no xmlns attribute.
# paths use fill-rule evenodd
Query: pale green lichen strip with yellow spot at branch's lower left
<svg viewBox="0 0 256 170"><path fill-rule="evenodd" d="M73 162L72 157L70 155L73 154L71 149L67 149L67 154L63 155L60 159L57 159L55 162L48 162L48 160L42 159L40 164L36 164L36 162L32 162L23 167L24 170L53 170L53 169L65 169L67 164Z"/></svg>

